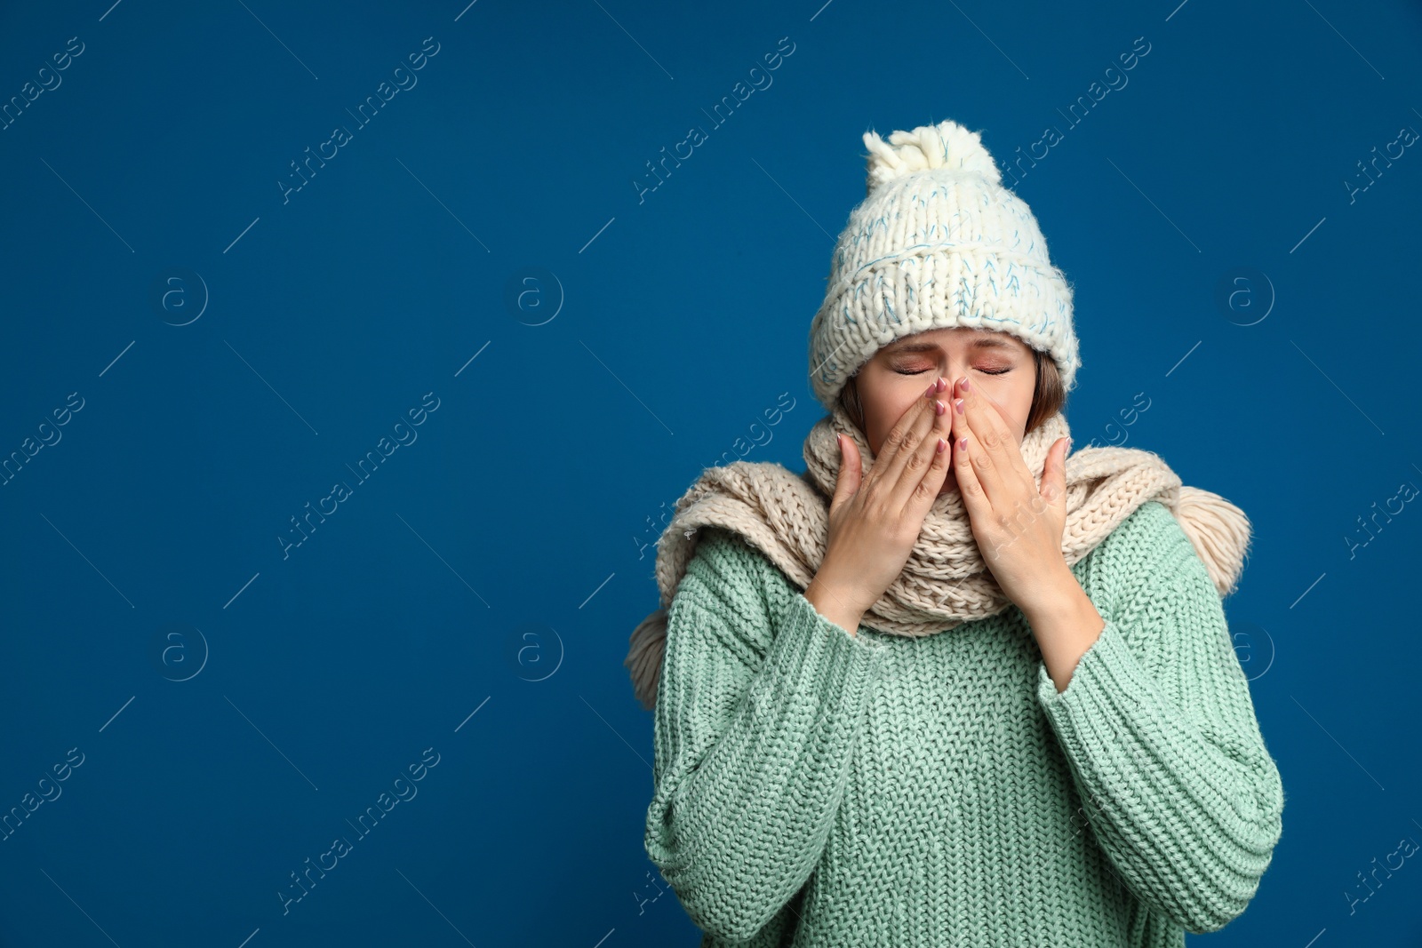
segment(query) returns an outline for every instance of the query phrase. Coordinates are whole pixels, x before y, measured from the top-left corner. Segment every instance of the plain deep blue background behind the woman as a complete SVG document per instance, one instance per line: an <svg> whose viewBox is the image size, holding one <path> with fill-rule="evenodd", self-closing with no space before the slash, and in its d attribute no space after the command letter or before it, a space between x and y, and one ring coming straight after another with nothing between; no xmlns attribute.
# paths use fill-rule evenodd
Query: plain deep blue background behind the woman
<svg viewBox="0 0 1422 948"><path fill-rule="evenodd" d="M651 716L621 661L653 544L704 466L803 469L860 135L944 118L1004 163L1062 135L1017 190L1076 287L1076 445L1156 451L1254 522L1226 608L1284 833L1209 944L1419 944L1416 860L1359 878L1422 841L1422 513L1362 527L1422 485L1422 156L1359 169L1422 129L1419 21L6 4L0 99L60 84L0 131L0 455L51 442L0 488L0 812L61 793L0 843L0 944L697 944L641 846ZM360 837L383 793L407 799Z"/></svg>

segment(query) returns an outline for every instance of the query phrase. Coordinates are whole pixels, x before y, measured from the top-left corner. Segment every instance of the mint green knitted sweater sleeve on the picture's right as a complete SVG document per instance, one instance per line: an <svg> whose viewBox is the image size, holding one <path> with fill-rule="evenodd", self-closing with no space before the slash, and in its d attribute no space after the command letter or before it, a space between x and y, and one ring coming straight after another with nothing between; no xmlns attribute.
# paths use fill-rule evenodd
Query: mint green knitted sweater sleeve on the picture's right
<svg viewBox="0 0 1422 948"><path fill-rule="evenodd" d="M1132 519L1113 544L1123 594L1103 597L1119 607L1065 691L1039 665L1037 696L1126 885L1185 930L1217 931L1273 858L1283 785L1204 563L1165 506Z"/></svg>

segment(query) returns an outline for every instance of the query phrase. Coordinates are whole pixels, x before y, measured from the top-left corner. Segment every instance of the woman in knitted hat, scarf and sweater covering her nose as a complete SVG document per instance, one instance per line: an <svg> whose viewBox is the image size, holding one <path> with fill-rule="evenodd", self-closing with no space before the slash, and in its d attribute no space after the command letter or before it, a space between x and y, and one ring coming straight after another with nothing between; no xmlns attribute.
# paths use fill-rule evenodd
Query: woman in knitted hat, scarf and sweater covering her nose
<svg viewBox="0 0 1422 948"><path fill-rule="evenodd" d="M1068 459L1071 287L977 134L865 144L806 472L708 469L658 542L647 853L704 947L1183 945L1281 831L1221 607L1249 522Z"/></svg>

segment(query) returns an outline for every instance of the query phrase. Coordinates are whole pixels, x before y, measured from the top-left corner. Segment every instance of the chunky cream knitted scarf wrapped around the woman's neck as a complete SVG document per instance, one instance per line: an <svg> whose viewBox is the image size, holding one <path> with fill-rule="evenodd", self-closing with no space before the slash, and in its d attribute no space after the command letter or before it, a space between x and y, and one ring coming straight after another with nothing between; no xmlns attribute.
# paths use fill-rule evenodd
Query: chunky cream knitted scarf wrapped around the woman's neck
<svg viewBox="0 0 1422 948"><path fill-rule="evenodd" d="M675 513L657 540L661 607L633 631L623 662L644 708L651 709L657 701L667 607L695 553L700 527L738 533L798 588L809 586L828 543L829 502L840 460L836 433L853 438L867 472L873 463L869 443L836 404L805 439L803 475L772 462L735 460L704 470L677 500ZM1066 419L1058 412L1022 439L1022 459L1038 488L1047 452L1058 438L1069 435ZM1142 503L1159 500L1190 537L1220 596L1234 591L1250 543L1250 522L1243 510L1209 490L1183 486L1165 460L1149 451L1084 448L1066 458L1065 469L1062 554L1068 566L1091 553ZM907 564L865 614L863 624L893 635L933 635L1011 605L983 560L961 495L950 490L933 502Z"/></svg>

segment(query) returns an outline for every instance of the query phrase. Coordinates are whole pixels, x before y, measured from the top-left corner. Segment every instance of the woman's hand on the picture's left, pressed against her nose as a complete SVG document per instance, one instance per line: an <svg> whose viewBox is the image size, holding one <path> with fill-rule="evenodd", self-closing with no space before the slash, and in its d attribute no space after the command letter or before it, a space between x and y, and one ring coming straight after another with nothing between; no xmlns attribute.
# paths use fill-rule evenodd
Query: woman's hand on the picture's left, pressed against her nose
<svg viewBox="0 0 1422 948"><path fill-rule="evenodd" d="M903 571L948 475L951 409L937 398L947 389L947 381L939 378L914 399L884 438L867 475L860 473L857 445L839 439L828 546L805 598L850 634Z"/></svg>

